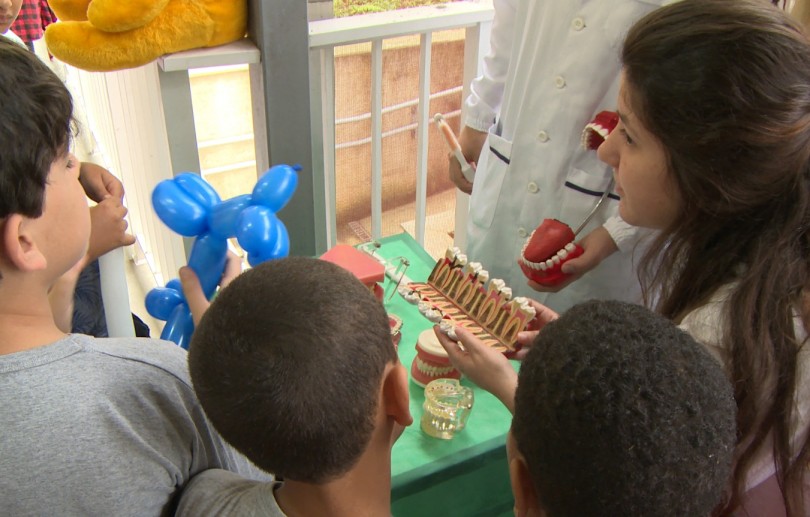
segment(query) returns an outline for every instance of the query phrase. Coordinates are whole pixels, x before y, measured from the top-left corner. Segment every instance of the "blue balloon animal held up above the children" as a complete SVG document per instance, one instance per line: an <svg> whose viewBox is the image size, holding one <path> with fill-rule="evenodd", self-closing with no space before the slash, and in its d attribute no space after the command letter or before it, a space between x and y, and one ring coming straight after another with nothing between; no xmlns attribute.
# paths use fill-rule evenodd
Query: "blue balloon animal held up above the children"
<svg viewBox="0 0 810 517"><path fill-rule="evenodd" d="M298 170L289 165L271 167L251 194L226 201L199 175L189 172L155 187L152 205L160 220L180 235L196 237L188 265L199 277L206 298L211 298L222 277L229 238L236 237L251 266L289 254L290 237L276 212L295 192ZM188 349L194 322L180 280L149 291L145 305L149 314L166 322L160 338Z"/></svg>

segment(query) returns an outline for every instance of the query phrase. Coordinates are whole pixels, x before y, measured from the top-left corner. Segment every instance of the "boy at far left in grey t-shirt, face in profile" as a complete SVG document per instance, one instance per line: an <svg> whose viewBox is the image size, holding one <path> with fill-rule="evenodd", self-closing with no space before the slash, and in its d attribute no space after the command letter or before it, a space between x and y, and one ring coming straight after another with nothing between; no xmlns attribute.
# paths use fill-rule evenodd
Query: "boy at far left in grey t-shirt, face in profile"
<svg viewBox="0 0 810 517"><path fill-rule="evenodd" d="M0 501L9 515L171 514L200 470L259 473L210 428L181 349L56 325L49 292L75 281L90 235L71 124L64 84L0 38Z"/></svg>

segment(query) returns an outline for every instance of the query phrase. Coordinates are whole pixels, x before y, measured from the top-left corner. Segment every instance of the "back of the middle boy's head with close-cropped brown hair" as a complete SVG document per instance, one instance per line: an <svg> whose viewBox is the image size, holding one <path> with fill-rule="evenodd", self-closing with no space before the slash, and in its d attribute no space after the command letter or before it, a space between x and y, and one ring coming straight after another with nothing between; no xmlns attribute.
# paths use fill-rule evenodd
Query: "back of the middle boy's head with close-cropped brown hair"
<svg viewBox="0 0 810 517"><path fill-rule="evenodd" d="M396 361L370 291L339 266L302 257L236 278L189 347L194 388L220 434L262 469L308 483L359 459Z"/></svg>

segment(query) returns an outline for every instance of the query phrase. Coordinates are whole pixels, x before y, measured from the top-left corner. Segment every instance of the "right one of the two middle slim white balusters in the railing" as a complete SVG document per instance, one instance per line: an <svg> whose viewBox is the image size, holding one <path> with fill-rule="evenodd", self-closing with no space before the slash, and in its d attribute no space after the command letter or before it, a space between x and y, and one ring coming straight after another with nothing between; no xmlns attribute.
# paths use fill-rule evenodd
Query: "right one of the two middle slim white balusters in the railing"
<svg viewBox="0 0 810 517"><path fill-rule="evenodd" d="M416 242L425 245L427 204L428 127L430 125L430 63L433 33L422 33L419 49L419 107L416 137Z"/></svg>

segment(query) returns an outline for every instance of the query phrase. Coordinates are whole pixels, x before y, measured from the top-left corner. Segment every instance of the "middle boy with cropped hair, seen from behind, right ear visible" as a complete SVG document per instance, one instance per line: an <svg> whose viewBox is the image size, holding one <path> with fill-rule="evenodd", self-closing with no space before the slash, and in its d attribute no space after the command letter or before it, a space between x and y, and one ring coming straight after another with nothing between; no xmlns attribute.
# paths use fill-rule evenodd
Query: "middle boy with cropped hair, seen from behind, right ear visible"
<svg viewBox="0 0 810 517"><path fill-rule="evenodd" d="M302 257L243 273L202 317L189 369L216 429L278 481L204 472L178 515L390 514L408 377L385 309L351 273Z"/></svg>

